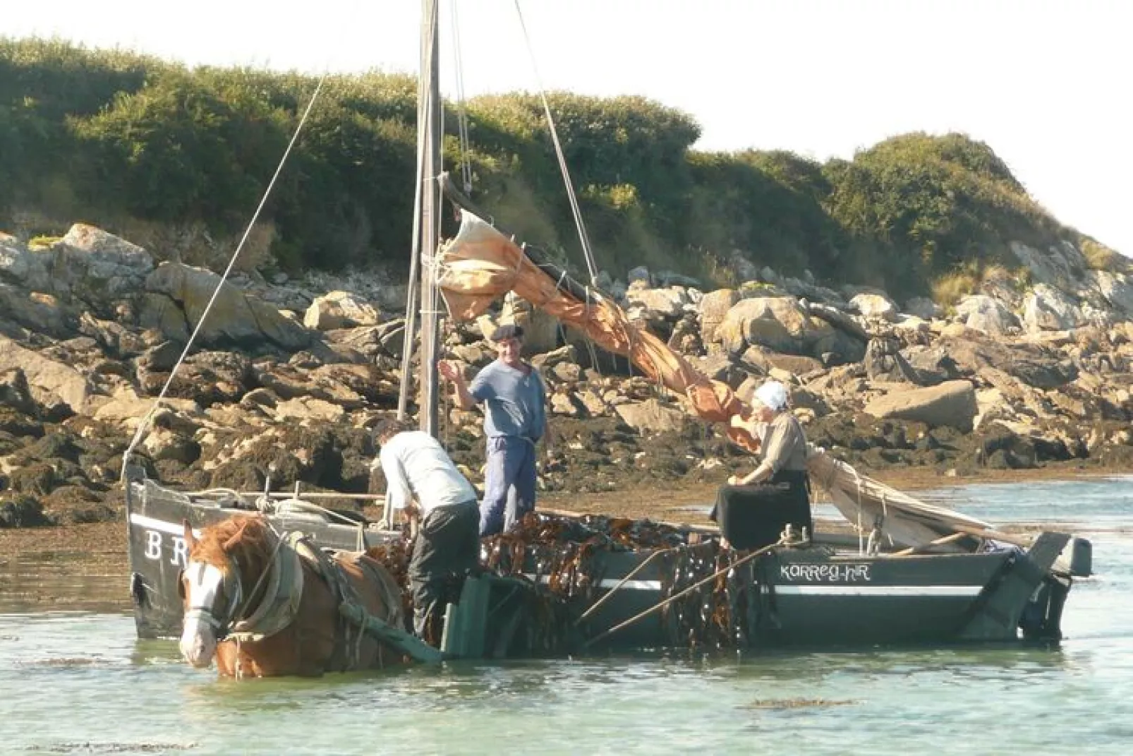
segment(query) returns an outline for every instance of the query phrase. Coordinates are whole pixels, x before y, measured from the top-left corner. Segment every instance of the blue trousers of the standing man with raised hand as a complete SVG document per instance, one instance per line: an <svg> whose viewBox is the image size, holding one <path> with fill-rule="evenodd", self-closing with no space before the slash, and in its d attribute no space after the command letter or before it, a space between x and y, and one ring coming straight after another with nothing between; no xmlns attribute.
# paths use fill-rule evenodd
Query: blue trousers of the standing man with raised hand
<svg viewBox="0 0 1133 756"><path fill-rule="evenodd" d="M488 439L480 537L496 535L535 509L535 444L513 435Z"/></svg>

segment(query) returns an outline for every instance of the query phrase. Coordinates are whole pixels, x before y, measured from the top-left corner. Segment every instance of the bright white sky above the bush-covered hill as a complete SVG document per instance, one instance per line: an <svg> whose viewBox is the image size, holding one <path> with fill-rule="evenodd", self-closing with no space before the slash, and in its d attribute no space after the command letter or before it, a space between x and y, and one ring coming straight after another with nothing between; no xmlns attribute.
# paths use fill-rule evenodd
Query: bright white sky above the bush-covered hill
<svg viewBox="0 0 1133 756"><path fill-rule="evenodd" d="M449 25L452 0L440 2ZM417 0L3 5L0 34L190 65L417 68ZM991 145L1060 221L1133 255L1133 3L523 0L521 8L548 90L642 94L680 108L700 122L705 150L826 160L904 131L964 131ZM459 20L468 96L536 88L513 0L460 0ZM451 51L443 40L442 68Z"/></svg>

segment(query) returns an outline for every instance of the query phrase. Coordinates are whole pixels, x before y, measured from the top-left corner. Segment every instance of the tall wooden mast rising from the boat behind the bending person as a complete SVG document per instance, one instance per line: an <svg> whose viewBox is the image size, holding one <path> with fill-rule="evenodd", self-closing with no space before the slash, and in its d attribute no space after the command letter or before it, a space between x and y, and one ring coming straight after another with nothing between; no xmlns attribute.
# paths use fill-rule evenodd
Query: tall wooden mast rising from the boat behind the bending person
<svg viewBox="0 0 1133 756"><path fill-rule="evenodd" d="M409 282L410 312L406 318L406 346L402 358L401 393L398 416L404 416L408 397L409 362L412 356L412 305L420 303L421 349L420 349L420 419L419 427L436 436L437 391L436 362L440 329L437 308L440 298L435 284L433 257L436 254L440 230L436 177L441 173L441 91L440 91L440 44L436 0L421 0L420 78L417 87L417 190L416 218L414 219L412 267L420 274L419 297L414 297L417 281ZM412 275L412 271L410 272Z"/></svg>

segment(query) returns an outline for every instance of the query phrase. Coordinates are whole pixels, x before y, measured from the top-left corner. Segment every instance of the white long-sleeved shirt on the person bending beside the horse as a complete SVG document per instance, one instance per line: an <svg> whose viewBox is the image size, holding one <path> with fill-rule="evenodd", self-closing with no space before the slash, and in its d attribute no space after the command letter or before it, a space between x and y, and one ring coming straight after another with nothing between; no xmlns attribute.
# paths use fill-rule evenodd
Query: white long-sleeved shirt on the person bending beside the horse
<svg viewBox="0 0 1133 756"><path fill-rule="evenodd" d="M372 467L385 473L386 495L394 509L404 509L412 496L421 508L421 519L437 507L476 501L476 489L449 455L424 431L406 431L382 444Z"/></svg>

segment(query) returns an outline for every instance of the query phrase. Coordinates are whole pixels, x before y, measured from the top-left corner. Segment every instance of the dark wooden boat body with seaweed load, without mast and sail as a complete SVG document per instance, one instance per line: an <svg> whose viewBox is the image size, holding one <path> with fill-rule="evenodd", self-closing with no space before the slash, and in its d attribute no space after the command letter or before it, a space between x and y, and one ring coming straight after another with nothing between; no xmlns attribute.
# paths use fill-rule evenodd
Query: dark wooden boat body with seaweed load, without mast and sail
<svg viewBox="0 0 1133 756"><path fill-rule="evenodd" d="M199 528L249 511L262 511L276 529L301 530L324 547L358 550L401 538L399 532L309 500L261 496L257 503L232 493L186 494L136 477L127 489L127 512L131 596L140 637L180 632L181 523L187 519ZM671 528L663 547L593 546L586 569L565 578L546 564L554 550L577 552L579 542L530 544L518 559L497 566L496 575L518 577L533 589L538 585L551 591L555 581L554 591L564 597L559 620L570 625L576 653L690 643L826 647L1057 640L1072 579L1089 574L1089 542L1042 533L1024 550L990 536L964 535L976 544L971 551L940 551L957 538L920 550L891 546L868 553L855 537L819 534L756 554L722 551L718 534L712 530ZM721 568L724 575L693 585ZM514 591L514 581L504 585ZM468 619L499 609L504 598L483 585L471 593L477 596L468 605L462 601L450 608L449 623L465 629L459 637L455 630L449 634L449 651L506 655L506 642L486 630L483 621ZM705 621L706 612L719 613L722 606L727 608L726 622ZM480 640L470 643L468 634Z"/></svg>

